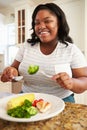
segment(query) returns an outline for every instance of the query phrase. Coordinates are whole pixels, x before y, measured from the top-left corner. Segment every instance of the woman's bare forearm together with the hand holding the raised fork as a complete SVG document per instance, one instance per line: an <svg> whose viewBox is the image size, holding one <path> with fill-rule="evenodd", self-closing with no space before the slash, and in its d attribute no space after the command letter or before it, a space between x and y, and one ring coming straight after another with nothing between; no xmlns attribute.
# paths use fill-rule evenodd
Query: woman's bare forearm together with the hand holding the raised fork
<svg viewBox="0 0 87 130"><path fill-rule="evenodd" d="M73 77L66 72L56 74L52 77L61 87L75 93L82 93L87 90L87 67L72 69Z"/></svg>

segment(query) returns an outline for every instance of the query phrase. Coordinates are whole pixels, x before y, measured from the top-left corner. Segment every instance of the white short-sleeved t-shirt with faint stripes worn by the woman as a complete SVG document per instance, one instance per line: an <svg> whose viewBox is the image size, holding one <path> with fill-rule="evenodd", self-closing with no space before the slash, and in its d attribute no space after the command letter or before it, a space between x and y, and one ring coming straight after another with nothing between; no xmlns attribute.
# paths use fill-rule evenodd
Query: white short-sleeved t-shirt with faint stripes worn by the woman
<svg viewBox="0 0 87 130"><path fill-rule="evenodd" d="M60 98L65 98L72 94L72 92L62 88L55 81L39 72L34 75L29 75L27 71L29 65L39 65L41 70L50 75L55 74L54 66L57 64L69 63L71 68L87 66L84 55L75 44L68 44L66 47L65 44L58 43L51 54L44 55L40 51L39 43L34 46L25 43L20 47L16 55L16 60L21 62L19 73L24 77L23 92L48 93Z"/></svg>

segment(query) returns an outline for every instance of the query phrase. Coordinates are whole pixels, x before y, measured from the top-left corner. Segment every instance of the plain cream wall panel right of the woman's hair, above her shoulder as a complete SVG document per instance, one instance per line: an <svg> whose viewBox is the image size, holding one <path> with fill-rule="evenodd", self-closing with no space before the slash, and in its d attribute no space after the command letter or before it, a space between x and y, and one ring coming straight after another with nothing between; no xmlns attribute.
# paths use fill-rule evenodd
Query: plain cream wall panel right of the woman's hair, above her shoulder
<svg viewBox="0 0 87 130"><path fill-rule="evenodd" d="M65 0L56 2L65 12L74 43L85 50L84 37L84 0Z"/></svg>

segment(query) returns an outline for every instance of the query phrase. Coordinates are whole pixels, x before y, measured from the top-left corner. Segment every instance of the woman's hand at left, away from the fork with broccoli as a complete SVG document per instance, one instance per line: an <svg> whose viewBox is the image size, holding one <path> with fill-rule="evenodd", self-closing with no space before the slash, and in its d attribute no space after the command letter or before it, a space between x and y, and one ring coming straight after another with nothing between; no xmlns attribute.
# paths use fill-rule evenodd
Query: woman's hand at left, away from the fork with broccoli
<svg viewBox="0 0 87 130"><path fill-rule="evenodd" d="M7 67L1 75L2 82L12 81L13 76L18 76L18 71L14 67Z"/></svg>

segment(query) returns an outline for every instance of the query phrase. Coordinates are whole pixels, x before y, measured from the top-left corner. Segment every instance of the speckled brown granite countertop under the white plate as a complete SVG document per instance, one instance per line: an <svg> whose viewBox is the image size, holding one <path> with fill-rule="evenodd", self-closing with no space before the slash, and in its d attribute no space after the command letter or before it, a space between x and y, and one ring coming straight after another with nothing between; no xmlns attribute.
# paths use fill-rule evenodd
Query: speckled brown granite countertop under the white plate
<svg viewBox="0 0 87 130"><path fill-rule="evenodd" d="M60 114L37 122L20 123L0 119L0 130L87 130L87 105L66 102Z"/></svg>

